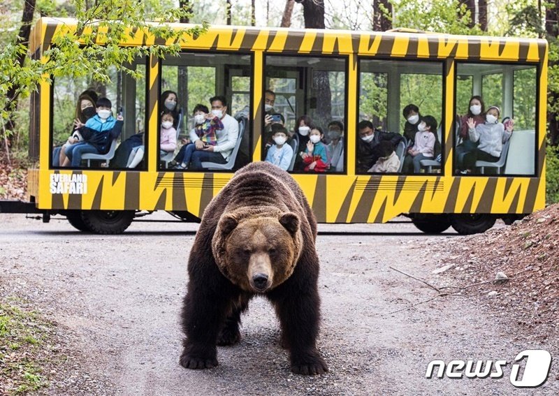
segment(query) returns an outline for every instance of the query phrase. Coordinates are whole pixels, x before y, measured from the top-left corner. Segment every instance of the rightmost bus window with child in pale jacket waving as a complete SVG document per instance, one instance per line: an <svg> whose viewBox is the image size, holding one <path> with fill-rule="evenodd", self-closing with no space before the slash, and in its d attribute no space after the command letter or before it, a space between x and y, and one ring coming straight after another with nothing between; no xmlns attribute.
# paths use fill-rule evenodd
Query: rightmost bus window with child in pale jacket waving
<svg viewBox="0 0 559 396"><path fill-rule="evenodd" d="M456 78L471 84L456 85L455 173L534 175L536 66L458 63ZM497 117L495 123L488 112Z"/></svg>

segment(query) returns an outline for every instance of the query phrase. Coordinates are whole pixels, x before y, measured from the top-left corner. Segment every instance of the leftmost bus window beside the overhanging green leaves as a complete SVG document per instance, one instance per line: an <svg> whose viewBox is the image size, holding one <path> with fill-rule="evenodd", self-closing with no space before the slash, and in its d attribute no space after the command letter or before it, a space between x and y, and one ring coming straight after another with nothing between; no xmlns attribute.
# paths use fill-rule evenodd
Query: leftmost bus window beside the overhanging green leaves
<svg viewBox="0 0 559 396"><path fill-rule="evenodd" d="M109 75L112 82L108 85L92 82L86 77L56 78L52 87L51 139L54 149L51 164L53 167L126 168L127 159L124 159L124 155L119 159L117 146L119 142L123 142L132 135L138 132L143 133L146 107L146 62L145 57L140 57L132 64L126 65L127 68L141 75L136 79L124 71L110 68ZM120 133L107 143L97 141L95 132L89 129L76 131L74 125L76 119L79 118L81 122L85 122L89 116L94 115L85 110L86 103L95 102L98 98L103 97L110 101L112 119L116 119L121 108L124 117ZM96 108L96 103L93 105ZM101 129L101 132L106 131ZM139 144L142 144L142 138L139 138L138 141ZM85 143L88 145L87 150L83 149Z"/></svg>

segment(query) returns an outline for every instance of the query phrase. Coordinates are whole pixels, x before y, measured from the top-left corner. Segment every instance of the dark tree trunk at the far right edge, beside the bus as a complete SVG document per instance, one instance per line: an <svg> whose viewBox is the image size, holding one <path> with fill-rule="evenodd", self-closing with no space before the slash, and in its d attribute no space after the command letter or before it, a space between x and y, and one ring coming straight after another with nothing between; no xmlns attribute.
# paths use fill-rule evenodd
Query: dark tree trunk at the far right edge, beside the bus
<svg viewBox="0 0 559 396"><path fill-rule="evenodd" d="M546 34L547 40L550 46L554 45L557 47L557 36L559 32L558 24L558 10L559 10L559 0L555 0L546 5ZM557 61L550 60L548 66L556 66ZM555 109L559 107L559 92L548 90L548 110L547 112L547 122L549 131L549 140L552 145L557 145L559 143L559 114Z"/></svg>

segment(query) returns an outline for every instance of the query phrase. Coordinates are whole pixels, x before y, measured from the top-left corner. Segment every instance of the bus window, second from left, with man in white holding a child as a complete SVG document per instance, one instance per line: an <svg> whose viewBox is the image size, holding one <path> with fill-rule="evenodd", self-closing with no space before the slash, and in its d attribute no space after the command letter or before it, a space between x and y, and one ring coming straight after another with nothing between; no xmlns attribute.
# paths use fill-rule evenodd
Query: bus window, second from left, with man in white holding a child
<svg viewBox="0 0 559 396"><path fill-rule="evenodd" d="M177 131L177 149L173 153L177 169L199 170L202 166L209 169L235 170L248 163L252 156L249 152L251 87L252 57L247 54L182 52L177 57L161 59L161 91L170 90L177 93L178 104L184 115L180 130ZM226 99L228 116L222 118L226 125L224 129L212 128L208 134L203 133L202 129L196 129L196 132L194 108L196 105L204 105L211 111L210 98L213 96L224 96ZM228 133L228 124L231 124L228 117L235 117L240 128L234 141L229 139L232 135ZM208 145L226 144L231 147L219 152L187 150L191 136L201 138ZM198 156L203 156L204 153L208 154L208 158L201 157L198 161ZM212 155L215 158L210 158ZM168 157L170 161L173 155L169 154ZM160 166L166 167L167 161L161 161Z"/></svg>

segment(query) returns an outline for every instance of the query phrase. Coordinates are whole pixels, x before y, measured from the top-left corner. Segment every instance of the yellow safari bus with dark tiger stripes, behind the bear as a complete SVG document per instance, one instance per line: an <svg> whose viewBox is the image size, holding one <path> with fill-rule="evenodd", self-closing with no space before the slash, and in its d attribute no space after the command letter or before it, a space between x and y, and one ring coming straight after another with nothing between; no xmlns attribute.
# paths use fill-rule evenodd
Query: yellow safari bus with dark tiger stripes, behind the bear
<svg viewBox="0 0 559 396"><path fill-rule="evenodd" d="M75 21L38 20L32 56L42 57L68 27ZM138 32L125 45L150 42ZM45 221L64 214L94 233L122 233L156 210L198 221L235 170L276 161L273 153L289 146L284 169L319 222L383 223L405 214L427 233L483 232L495 219L544 207L547 57L546 41L532 38L210 27L187 37L176 57L127 65L143 77L115 72L118 83L92 94L110 99L122 129L103 150L78 158L73 149L69 162L61 152L82 141L68 140L73 108L57 103L80 108L91 82L45 80L31 97L29 154L37 166L29 169L29 202ZM175 145L164 149L173 142L162 126L169 112ZM223 124L212 147L196 145L199 113ZM484 141L478 124L498 130L496 138ZM305 160L320 145L325 156ZM487 147L489 158L479 153ZM131 161L136 155L140 161ZM389 157L392 168L379 166Z"/></svg>

